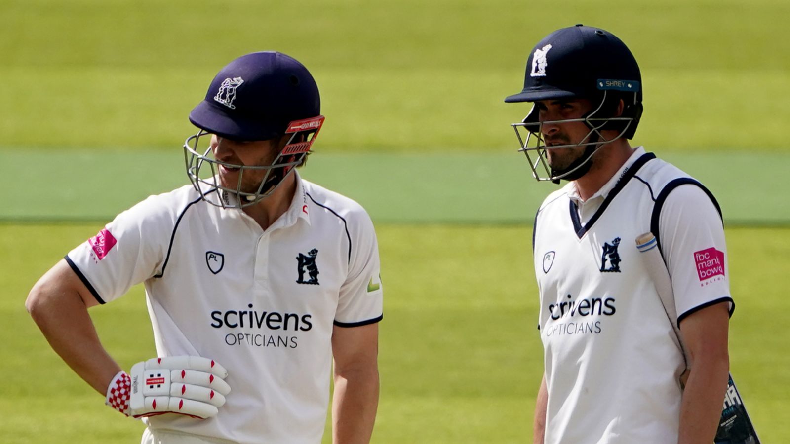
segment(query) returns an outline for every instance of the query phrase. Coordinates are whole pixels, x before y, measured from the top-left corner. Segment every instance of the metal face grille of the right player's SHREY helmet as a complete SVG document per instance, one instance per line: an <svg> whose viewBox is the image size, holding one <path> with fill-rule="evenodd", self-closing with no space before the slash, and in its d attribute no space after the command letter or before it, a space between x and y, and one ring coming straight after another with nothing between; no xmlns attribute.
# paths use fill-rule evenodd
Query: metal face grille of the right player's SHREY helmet
<svg viewBox="0 0 790 444"><path fill-rule="evenodd" d="M626 134L628 128L634 122L634 118L632 117L596 117L596 115L601 111L601 108L604 107L604 103L606 101L606 92L604 92L604 96L601 99L598 107L593 111L587 113L587 115L578 118L578 119L562 119L562 120L547 120L544 122L532 120L536 119L536 109L534 105L532 107L532 111L530 111L529 115L525 117L525 119L519 123L511 123L510 126L513 127L513 130L516 132L516 137L518 138L518 152L523 152L529 162L529 167L532 169L532 177L534 177L538 181L554 181L557 182L559 179L566 178L569 175L572 175L574 171L577 171L581 168L584 164L589 162L592 159L592 156L604 145L608 144L609 142L615 141L620 137L623 137L623 134ZM534 116L534 117L533 117ZM589 132L579 141L578 143L574 144L567 144L567 145L551 145L547 146L544 141L543 136L543 128L544 125L551 125L551 124L565 124L570 122L583 122L589 128ZM608 139L601 134L601 131L604 130L605 126L607 126L610 122L623 122L623 129L619 131L619 133ZM522 133L525 133L525 136L522 137ZM553 171L551 166L548 163L547 153L550 149L563 149L563 148L575 148L575 147L587 147L587 146L594 146L595 149L589 150L586 153L585 159L582 160L576 167L571 168L570 170L566 171Z"/></svg>

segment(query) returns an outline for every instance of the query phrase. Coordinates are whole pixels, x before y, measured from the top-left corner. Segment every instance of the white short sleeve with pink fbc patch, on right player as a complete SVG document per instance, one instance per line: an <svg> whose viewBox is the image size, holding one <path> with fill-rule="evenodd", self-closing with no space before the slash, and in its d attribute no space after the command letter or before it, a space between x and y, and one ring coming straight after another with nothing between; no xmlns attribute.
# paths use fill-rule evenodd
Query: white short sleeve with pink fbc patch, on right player
<svg viewBox="0 0 790 444"><path fill-rule="evenodd" d="M668 194L660 211L661 249L672 277L678 324L724 301L732 315L724 225L712 198L701 186L687 183Z"/></svg>

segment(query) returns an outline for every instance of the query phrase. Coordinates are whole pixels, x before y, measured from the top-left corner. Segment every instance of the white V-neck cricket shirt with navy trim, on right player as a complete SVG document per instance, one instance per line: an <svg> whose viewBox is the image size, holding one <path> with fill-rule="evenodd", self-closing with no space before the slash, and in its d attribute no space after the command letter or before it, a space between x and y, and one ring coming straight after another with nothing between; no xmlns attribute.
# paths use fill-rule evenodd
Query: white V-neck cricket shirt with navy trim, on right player
<svg viewBox="0 0 790 444"><path fill-rule="evenodd" d="M732 314L718 205L683 171L640 147L587 201L573 182L550 194L533 233L546 444L677 441L685 363L636 247L647 231L672 276L677 322L724 301Z"/></svg>

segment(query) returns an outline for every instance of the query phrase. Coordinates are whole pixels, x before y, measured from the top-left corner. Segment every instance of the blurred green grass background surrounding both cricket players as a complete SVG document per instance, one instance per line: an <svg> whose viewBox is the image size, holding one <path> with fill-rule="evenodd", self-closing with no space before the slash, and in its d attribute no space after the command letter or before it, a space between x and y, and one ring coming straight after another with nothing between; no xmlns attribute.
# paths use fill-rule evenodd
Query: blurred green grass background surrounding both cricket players
<svg viewBox="0 0 790 444"><path fill-rule="evenodd" d="M790 40L784 0L0 2L4 442L137 442L24 311L29 288L134 202L186 182L186 119L232 58L303 62L327 120L302 174L371 213L387 283L374 442L530 442L542 371L529 177L502 103L556 28L640 62L644 144L727 221L732 373L764 442L790 442L784 295ZM437 290L441 288L441 290ZM153 352L141 288L92 310L125 367ZM328 442L325 437L325 442Z"/></svg>

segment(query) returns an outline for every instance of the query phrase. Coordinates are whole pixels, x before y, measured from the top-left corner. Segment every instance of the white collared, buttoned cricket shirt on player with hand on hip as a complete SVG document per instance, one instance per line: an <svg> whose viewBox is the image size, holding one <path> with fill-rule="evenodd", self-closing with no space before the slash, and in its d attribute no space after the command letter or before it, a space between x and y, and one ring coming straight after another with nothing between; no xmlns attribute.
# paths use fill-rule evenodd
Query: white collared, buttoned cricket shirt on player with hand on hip
<svg viewBox="0 0 790 444"><path fill-rule="evenodd" d="M100 303L145 283L158 356L205 356L228 369L232 391L218 416L152 416L150 428L321 442L333 325L380 321L382 282L365 210L299 175L296 183L265 231L182 186L119 214L66 256Z"/></svg>

